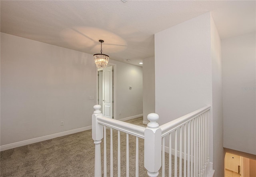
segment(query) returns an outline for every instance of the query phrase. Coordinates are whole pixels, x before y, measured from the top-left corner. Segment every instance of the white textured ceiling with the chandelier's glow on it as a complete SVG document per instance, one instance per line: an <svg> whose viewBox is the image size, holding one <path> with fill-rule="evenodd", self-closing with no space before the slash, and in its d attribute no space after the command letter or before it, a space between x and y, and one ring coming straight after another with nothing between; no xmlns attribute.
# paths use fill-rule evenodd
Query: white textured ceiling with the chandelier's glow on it
<svg viewBox="0 0 256 177"><path fill-rule="evenodd" d="M222 39L255 32L256 1L1 0L1 32L139 65L154 34L206 12ZM127 61L130 60L130 61Z"/></svg>

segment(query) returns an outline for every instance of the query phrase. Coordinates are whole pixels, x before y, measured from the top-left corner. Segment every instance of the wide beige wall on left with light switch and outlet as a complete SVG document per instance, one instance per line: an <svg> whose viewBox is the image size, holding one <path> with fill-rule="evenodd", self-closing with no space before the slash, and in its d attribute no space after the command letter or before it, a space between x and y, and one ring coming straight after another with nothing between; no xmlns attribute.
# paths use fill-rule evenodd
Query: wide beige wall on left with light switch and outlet
<svg viewBox="0 0 256 177"><path fill-rule="evenodd" d="M1 146L92 125L89 96L92 55L1 33Z"/></svg>

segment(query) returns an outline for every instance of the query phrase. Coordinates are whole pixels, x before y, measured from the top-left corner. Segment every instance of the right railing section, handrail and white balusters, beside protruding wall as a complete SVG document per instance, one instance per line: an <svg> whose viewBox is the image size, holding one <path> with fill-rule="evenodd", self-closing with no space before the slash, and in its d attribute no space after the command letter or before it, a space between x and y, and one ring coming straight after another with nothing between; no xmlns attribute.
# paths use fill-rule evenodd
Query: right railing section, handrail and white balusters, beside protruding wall
<svg viewBox="0 0 256 177"><path fill-rule="evenodd" d="M162 164L165 164L164 152L167 149L169 176L172 175L172 158L174 158L175 177L204 177L209 174L209 111L210 106L206 106L160 126ZM167 138L169 138L169 144L166 148L165 139ZM183 159L183 163L180 159ZM165 166L162 165L162 177L164 174Z"/></svg>

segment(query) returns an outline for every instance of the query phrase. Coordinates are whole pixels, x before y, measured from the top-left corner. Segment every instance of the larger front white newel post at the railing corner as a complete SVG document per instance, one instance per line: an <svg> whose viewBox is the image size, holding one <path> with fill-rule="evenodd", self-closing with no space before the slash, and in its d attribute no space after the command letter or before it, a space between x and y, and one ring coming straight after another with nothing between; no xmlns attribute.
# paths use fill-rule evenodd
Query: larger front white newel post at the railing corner
<svg viewBox="0 0 256 177"><path fill-rule="evenodd" d="M161 167L161 135L159 128L159 116L156 113L148 114L148 126L144 133L144 167L148 170L148 176L157 177Z"/></svg>

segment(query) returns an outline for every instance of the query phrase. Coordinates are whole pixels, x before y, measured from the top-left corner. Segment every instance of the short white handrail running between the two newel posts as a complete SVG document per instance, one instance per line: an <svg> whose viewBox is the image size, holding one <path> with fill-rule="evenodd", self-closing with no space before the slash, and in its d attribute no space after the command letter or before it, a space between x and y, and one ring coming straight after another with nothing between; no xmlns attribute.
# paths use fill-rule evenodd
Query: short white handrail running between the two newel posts
<svg viewBox="0 0 256 177"><path fill-rule="evenodd" d="M98 123L102 125L106 125L110 128L114 128L130 135L134 135L136 137L140 137L144 139L144 131L146 127L141 127L139 125L134 125L131 123L119 121L116 119L110 119L108 117L104 117L103 115L97 115Z"/></svg>

